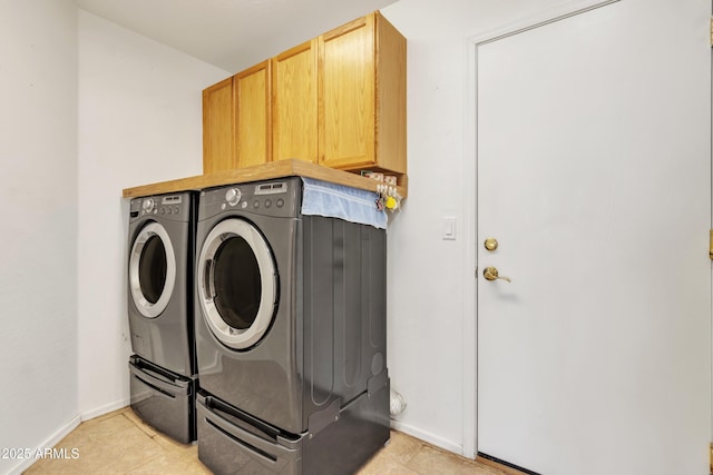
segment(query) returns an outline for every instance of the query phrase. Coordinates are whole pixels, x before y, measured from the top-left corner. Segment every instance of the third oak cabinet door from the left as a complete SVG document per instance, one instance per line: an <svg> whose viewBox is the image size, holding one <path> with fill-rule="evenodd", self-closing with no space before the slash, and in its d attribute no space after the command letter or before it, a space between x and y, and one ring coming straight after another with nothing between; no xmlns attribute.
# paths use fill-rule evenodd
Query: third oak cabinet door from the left
<svg viewBox="0 0 713 475"><path fill-rule="evenodd" d="M272 159L318 162L316 39L272 59Z"/></svg>

